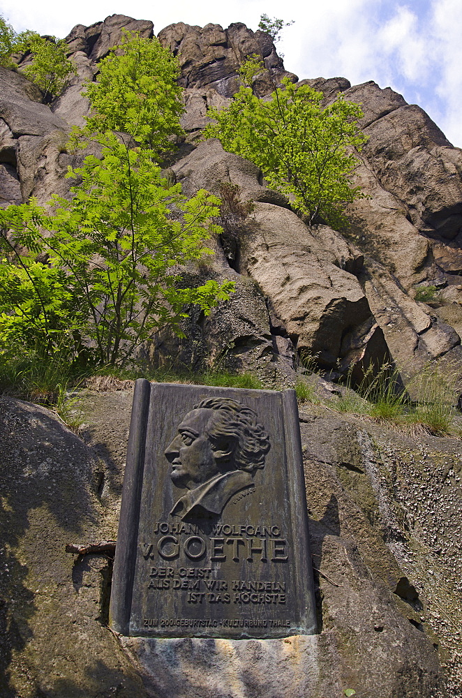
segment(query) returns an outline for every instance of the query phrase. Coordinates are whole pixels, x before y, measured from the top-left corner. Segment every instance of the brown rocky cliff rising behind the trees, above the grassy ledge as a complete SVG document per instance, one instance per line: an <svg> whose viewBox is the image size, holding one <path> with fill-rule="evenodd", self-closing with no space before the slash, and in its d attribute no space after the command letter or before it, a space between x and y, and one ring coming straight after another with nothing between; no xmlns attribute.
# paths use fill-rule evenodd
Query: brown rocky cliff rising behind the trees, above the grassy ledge
<svg viewBox="0 0 462 698"><path fill-rule="evenodd" d="M152 35L151 22L123 15L91 27L77 25L70 32L66 40L78 75L50 107L20 73L1 69L3 205L31 195L40 202L52 193L66 195L66 168L82 156L65 150L70 126L81 124L88 112L80 96L82 82L93 78L98 60L120 40L124 28ZM267 67L258 84L260 94L271 89L269 75L297 80L284 70L267 34L239 23L224 30L216 24L202 29L180 22L163 29L159 39L178 55L185 87L188 136L172 176L187 193L202 186L218 193L222 182L232 182L243 200L258 202L237 235L232 258L223 254L223 240L217 241L209 273L239 274L237 293L225 304L227 319L223 309L207 321L193 314L185 330L195 336L200 351L191 356L188 346L162 336L157 346L164 354L204 368L217 358L210 338L225 332L221 365L253 369L276 383L293 376L287 356L295 365L297 352L316 355L327 370L340 365L345 371L353 364L358 375L362 366L389 356L403 376L437 359L455 367L460 377L461 150L451 146L425 112L389 88L373 82L351 87L344 78L303 80L322 91L326 104L338 92L361 103L368 135L356 175L367 197L348 207L350 225L343 235L325 226L308 230L288 202L264 186L258 168L226 154L218 142L197 144L207 106L228 103L237 89L237 68L247 55L258 54ZM246 281L241 283L242 277ZM258 290L250 292L252 284ZM439 290L432 307L415 301L416 289L426 285ZM257 297L258 320L250 300ZM277 332L268 307L276 315Z"/></svg>

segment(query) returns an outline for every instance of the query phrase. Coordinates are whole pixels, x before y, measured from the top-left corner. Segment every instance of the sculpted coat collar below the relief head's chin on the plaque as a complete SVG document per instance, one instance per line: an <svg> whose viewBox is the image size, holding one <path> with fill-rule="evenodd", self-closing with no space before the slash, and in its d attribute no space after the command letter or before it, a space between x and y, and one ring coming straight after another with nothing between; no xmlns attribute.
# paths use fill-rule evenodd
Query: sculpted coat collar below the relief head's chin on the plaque
<svg viewBox="0 0 462 698"><path fill-rule="evenodd" d="M215 475L181 497L170 516L181 517L183 521L190 517L203 517L204 513L219 516L236 492L252 484L252 476L246 470L232 470L224 475Z"/></svg>

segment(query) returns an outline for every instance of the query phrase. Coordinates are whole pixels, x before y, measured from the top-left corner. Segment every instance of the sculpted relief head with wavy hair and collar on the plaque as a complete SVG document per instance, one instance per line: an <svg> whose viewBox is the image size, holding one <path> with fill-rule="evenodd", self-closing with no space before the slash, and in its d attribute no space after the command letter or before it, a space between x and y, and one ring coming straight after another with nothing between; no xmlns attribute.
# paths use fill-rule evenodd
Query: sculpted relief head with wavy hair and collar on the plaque
<svg viewBox="0 0 462 698"><path fill-rule="evenodd" d="M188 490L170 515L184 521L220 516L234 494L253 487L269 449L254 410L229 398L200 401L165 450L174 486Z"/></svg>

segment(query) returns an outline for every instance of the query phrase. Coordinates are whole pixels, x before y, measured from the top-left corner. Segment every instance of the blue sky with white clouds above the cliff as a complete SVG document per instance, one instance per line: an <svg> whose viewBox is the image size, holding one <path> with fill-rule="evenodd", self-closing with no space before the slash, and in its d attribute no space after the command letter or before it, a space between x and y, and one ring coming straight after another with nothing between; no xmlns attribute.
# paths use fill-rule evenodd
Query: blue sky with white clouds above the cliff
<svg viewBox="0 0 462 698"><path fill-rule="evenodd" d="M172 22L258 28L262 13L295 20L278 50L285 67L304 77L375 80L417 103L456 146L462 147L461 0L0 0L0 12L17 31L66 36L75 24L120 13L152 20L156 32Z"/></svg>

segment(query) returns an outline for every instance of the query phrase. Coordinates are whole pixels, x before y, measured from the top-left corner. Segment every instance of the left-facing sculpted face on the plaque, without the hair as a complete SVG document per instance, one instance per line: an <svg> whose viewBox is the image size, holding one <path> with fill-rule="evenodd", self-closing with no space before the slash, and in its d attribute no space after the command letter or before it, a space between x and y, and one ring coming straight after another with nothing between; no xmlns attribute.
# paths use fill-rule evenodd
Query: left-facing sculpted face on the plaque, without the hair
<svg viewBox="0 0 462 698"><path fill-rule="evenodd" d="M178 427L178 435L165 450L172 463L170 477L177 487L193 489L220 472L216 451L208 436L216 411L207 408L191 410Z"/></svg>

